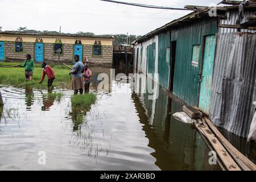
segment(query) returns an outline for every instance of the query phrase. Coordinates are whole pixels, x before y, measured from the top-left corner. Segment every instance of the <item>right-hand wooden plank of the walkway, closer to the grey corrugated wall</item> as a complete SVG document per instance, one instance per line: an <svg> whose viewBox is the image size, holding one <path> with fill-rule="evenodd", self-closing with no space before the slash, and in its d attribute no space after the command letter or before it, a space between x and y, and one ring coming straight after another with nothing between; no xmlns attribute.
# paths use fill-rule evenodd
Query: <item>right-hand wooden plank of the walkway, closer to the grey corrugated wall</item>
<svg viewBox="0 0 256 182"><path fill-rule="evenodd" d="M213 131L213 133L216 135L216 137L220 140L222 144L224 144L225 148L228 148L230 151L230 155L233 156L235 160L242 166L244 170L249 170L247 167L249 167L251 170L256 171L256 165L251 162L246 156L244 156L240 151L237 150L232 144L229 143L229 141L218 131L218 129L213 125L213 123L205 117L205 121L207 122L207 125L210 127L210 129ZM239 159L239 160L238 160ZM244 167L242 163L246 164L247 167Z"/></svg>

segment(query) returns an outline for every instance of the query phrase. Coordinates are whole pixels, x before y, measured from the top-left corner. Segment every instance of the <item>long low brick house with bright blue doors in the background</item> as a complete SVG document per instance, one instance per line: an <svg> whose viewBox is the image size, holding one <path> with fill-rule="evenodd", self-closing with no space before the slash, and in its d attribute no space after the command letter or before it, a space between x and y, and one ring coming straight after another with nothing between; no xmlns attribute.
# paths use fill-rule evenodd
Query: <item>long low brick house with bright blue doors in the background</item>
<svg viewBox="0 0 256 182"><path fill-rule="evenodd" d="M36 62L73 63L88 57L90 64L110 64L113 61L113 37L77 34L34 34L0 32L0 61L24 61L30 54Z"/></svg>

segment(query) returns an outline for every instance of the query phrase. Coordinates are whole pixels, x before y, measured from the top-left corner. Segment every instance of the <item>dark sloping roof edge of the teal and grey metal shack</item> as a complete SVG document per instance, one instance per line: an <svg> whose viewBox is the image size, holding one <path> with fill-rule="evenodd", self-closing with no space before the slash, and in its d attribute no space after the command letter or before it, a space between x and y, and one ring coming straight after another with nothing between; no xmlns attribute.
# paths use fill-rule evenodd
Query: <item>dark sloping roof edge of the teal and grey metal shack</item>
<svg viewBox="0 0 256 182"><path fill-rule="evenodd" d="M166 31L167 28L171 28L171 27L176 27L179 26L180 23L188 23L188 22L192 22L195 19L199 19L202 16L205 16L208 14L208 11L211 9L211 7L208 6L194 6L194 5L187 5L185 6L185 8L187 9L191 9L191 10L195 10L192 13L189 13L187 15L182 16L181 18L172 20L171 22L164 24L164 26L156 28L155 30L141 36L141 38L134 40L134 42L132 42L131 44L135 45L136 43L141 43L144 40L148 40L150 38L152 38L155 35L158 35L160 32L162 31ZM244 9L255 9L256 5L255 3L247 5L244 7ZM238 6L237 5L233 5L233 6L221 6L221 7L217 7L217 11L226 11L226 10L238 10Z"/></svg>

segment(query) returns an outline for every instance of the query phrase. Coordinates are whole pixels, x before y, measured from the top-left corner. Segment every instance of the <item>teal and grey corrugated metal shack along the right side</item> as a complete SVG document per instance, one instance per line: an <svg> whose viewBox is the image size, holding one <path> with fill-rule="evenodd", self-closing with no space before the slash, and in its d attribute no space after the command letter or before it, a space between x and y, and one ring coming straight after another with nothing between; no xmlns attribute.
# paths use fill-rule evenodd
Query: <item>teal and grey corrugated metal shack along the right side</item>
<svg viewBox="0 0 256 182"><path fill-rule="evenodd" d="M214 125L247 137L256 99L256 6L200 9L135 40L134 72L150 77ZM238 29L237 29L238 28ZM256 29L255 29L256 30ZM157 73L157 74L155 74Z"/></svg>

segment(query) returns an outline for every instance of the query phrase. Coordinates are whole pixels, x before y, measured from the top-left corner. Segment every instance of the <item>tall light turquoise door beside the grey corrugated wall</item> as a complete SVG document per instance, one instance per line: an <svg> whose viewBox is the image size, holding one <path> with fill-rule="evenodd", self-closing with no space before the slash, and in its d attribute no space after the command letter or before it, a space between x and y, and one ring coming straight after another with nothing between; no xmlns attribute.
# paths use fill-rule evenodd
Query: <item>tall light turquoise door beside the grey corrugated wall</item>
<svg viewBox="0 0 256 182"><path fill-rule="evenodd" d="M210 97L212 96L212 75L215 52L215 35L205 37L203 70L201 76L199 108L209 114Z"/></svg>

